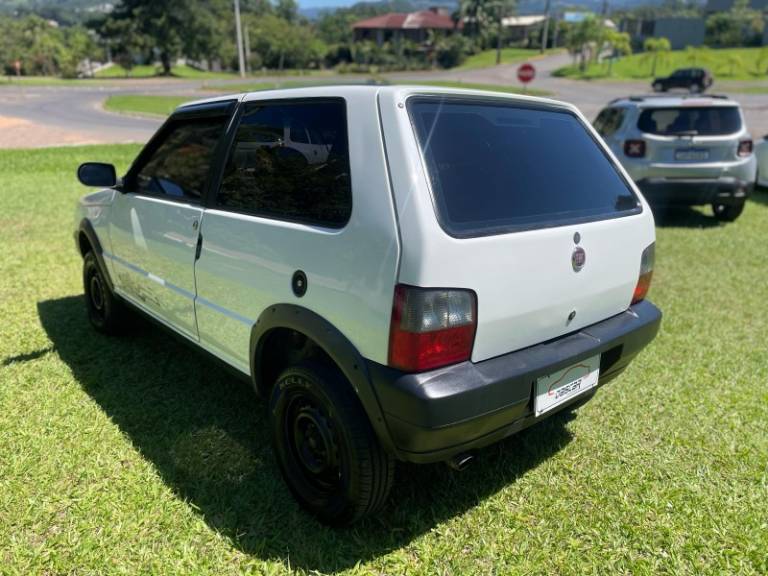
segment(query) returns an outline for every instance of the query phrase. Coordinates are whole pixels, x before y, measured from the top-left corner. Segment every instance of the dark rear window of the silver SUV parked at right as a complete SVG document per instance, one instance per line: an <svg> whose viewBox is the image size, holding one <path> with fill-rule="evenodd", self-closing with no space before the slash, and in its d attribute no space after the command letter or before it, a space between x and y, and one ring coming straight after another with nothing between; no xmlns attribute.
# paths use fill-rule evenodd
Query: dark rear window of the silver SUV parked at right
<svg viewBox="0 0 768 576"><path fill-rule="evenodd" d="M741 115L735 106L646 108L640 113L637 127L661 136L718 136L741 130Z"/></svg>

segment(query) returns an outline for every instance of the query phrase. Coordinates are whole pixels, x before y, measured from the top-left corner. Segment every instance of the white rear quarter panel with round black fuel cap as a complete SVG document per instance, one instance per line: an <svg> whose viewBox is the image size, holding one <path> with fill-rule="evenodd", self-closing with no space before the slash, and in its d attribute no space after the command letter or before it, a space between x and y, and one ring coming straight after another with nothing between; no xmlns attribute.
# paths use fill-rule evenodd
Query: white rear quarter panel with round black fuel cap
<svg viewBox="0 0 768 576"><path fill-rule="evenodd" d="M353 200L344 228L220 209L206 210L203 217L195 269L200 338L241 370L250 365L252 326L265 309L280 303L318 313L363 356L386 362L400 252L396 217L375 93L350 90L345 99ZM291 288L297 270L307 276L301 298Z"/></svg>

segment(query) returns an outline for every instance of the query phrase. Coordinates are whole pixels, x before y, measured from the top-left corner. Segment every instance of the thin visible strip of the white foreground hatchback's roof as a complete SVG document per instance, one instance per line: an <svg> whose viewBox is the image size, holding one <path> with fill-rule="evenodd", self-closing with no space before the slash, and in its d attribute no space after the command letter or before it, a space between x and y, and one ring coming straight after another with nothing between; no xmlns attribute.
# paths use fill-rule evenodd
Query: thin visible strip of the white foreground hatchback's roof
<svg viewBox="0 0 768 576"><path fill-rule="evenodd" d="M312 86L304 88L280 88L275 90L259 90L256 92L241 92L239 94L230 94L226 96L216 96L213 98L205 98L202 100L194 100L181 104L176 110L181 111L193 106L200 106L204 104L211 104L214 102L223 102L227 100L237 100L243 102L258 101L258 100L278 100L289 98L344 98L345 96L360 96L368 95L372 99L377 98L383 94L394 94L396 97L407 98L412 95L454 95L454 96L475 96L475 97L492 97L509 100L510 102L518 103L536 103L547 107L566 108L568 110L578 113L578 109L567 102L559 100L552 100L549 98L541 98L537 96L528 96L525 94L511 94L507 92L494 92L490 90L475 90L465 88L445 88L439 86L421 86L421 85L377 85L377 84L365 84L365 85L353 85L353 84L341 84L341 85L327 85L327 86Z"/></svg>

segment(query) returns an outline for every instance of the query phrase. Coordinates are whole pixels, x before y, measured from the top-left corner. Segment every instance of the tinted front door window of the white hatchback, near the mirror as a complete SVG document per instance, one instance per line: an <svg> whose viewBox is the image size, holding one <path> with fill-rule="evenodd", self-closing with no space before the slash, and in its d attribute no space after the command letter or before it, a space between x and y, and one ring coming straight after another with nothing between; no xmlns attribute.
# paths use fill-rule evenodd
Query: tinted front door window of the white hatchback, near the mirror
<svg viewBox="0 0 768 576"><path fill-rule="evenodd" d="M226 117L178 120L135 172L135 191L199 201Z"/></svg>

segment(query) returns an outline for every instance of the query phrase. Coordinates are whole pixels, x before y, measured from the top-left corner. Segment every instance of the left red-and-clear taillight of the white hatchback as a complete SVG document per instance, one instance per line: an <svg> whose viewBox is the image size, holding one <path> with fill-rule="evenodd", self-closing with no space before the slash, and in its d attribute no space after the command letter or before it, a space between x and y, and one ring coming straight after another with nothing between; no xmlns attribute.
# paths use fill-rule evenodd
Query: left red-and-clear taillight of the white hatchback
<svg viewBox="0 0 768 576"><path fill-rule="evenodd" d="M419 372L469 360L476 326L474 292L398 284L389 329L389 365Z"/></svg>

